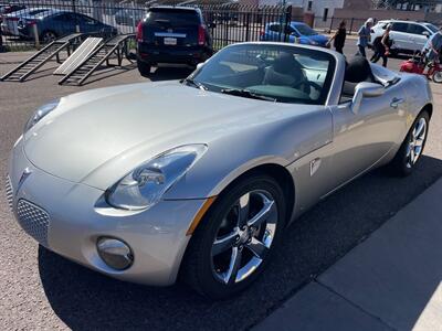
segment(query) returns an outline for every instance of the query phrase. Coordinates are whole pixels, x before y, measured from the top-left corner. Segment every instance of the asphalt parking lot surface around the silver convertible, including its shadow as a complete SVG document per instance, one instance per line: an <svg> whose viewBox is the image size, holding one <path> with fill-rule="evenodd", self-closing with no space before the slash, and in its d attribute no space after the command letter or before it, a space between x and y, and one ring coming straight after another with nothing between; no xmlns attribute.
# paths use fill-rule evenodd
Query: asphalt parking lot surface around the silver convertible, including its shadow
<svg viewBox="0 0 442 331"><path fill-rule="evenodd" d="M347 41L348 56L356 53ZM31 53L0 54L0 75ZM391 58L397 70L402 60ZM25 83L0 83L0 173L33 109L53 98L97 87L146 82L135 65L103 70L82 87L59 86L46 64ZM186 77L160 67L151 81ZM27 236L0 194L0 329L243 330L277 308L419 193L442 177L442 90L431 84L435 109L420 168L406 179L376 170L333 194L286 233L266 273L238 298L212 302L186 286L152 288L117 281L73 264ZM122 109L124 113L125 109ZM4 178L1 177L1 186Z"/></svg>

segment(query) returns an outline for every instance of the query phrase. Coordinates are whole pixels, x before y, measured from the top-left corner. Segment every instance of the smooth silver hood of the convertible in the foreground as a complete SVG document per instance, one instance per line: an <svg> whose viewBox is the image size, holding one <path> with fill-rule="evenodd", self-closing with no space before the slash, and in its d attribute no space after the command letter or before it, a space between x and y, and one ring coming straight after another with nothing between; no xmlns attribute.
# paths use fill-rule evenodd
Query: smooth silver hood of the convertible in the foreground
<svg viewBox="0 0 442 331"><path fill-rule="evenodd" d="M313 106L299 107L307 111ZM24 152L43 171L106 189L99 169L108 163L122 171L119 178L168 149L210 145L235 130L293 117L293 108L178 82L102 88L62 98L24 135Z"/></svg>

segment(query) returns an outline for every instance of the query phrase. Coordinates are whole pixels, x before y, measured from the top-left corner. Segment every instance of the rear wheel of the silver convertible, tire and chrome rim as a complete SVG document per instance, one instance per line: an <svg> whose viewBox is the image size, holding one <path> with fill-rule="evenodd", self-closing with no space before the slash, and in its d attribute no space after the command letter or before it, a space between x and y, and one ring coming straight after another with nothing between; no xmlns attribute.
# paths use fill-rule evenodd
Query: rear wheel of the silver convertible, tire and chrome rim
<svg viewBox="0 0 442 331"><path fill-rule="evenodd" d="M413 172L425 147L429 125L430 115L425 110L421 111L390 163L394 174L406 177Z"/></svg>

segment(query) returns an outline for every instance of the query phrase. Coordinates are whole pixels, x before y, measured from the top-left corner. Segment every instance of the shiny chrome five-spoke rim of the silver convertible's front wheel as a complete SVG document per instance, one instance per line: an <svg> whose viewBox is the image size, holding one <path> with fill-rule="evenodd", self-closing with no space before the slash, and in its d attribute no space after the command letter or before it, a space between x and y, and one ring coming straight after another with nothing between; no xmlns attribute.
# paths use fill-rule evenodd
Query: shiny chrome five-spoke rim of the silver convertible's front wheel
<svg viewBox="0 0 442 331"><path fill-rule="evenodd" d="M212 244L215 278L233 285L252 275L269 254L277 220L277 205L267 191L243 194L223 217Z"/></svg>

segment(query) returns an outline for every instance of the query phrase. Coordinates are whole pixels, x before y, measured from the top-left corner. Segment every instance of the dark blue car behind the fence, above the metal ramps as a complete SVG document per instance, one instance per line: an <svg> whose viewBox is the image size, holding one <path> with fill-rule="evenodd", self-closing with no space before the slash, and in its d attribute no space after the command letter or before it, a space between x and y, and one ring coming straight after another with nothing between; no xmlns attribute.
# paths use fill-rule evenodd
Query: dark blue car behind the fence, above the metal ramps
<svg viewBox="0 0 442 331"><path fill-rule="evenodd" d="M76 32L97 33L101 36L109 38L117 34L114 26L102 23L82 13L51 9L32 18L21 18L18 23L19 34L22 38L32 39L32 25L36 24L40 40L49 43L55 39Z"/></svg>

